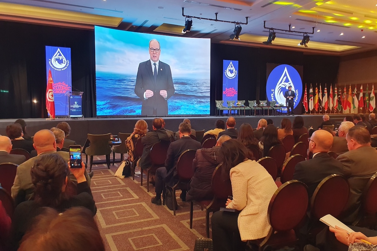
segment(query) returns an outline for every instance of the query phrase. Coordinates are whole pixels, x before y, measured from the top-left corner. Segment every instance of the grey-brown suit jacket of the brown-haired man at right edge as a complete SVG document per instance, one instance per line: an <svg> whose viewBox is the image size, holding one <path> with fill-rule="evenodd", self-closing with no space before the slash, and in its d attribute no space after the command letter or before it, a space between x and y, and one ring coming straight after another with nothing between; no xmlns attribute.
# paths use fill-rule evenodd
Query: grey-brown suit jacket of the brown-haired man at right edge
<svg viewBox="0 0 377 251"><path fill-rule="evenodd" d="M343 173L348 178L349 197L344 210L344 222L353 222L360 210L361 196L366 183L377 172L377 150L371 146L362 146L338 156L343 164Z"/></svg>

